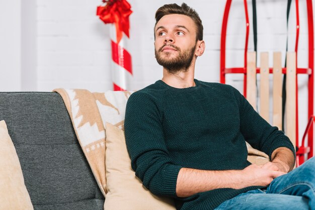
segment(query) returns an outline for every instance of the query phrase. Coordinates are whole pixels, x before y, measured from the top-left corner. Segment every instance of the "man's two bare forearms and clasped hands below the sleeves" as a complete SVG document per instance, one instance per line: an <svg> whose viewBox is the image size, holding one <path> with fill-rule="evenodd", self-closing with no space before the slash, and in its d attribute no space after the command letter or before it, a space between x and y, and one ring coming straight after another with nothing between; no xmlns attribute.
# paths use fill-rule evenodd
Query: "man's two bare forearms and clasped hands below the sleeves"
<svg viewBox="0 0 315 210"><path fill-rule="evenodd" d="M227 171L182 168L177 178L176 194L179 197L187 197L217 188L267 186L274 178L291 171L293 167L293 152L286 147L280 147L272 153L272 162L263 166L253 164L244 170Z"/></svg>

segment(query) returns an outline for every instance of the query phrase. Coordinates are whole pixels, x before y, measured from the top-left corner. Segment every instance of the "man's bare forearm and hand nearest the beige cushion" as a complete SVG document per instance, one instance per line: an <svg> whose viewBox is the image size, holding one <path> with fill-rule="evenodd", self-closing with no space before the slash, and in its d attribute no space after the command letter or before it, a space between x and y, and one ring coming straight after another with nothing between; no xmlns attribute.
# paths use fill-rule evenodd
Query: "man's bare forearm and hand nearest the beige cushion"
<svg viewBox="0 0 315 210"><path fill-rule="evenodd" d="M187 197L198 192L218 188L242 189L249 186L267 186L270 182L285 174L269 168L252 164L243 170L207 171L182 168L179 171L176 194Z"/></svg>

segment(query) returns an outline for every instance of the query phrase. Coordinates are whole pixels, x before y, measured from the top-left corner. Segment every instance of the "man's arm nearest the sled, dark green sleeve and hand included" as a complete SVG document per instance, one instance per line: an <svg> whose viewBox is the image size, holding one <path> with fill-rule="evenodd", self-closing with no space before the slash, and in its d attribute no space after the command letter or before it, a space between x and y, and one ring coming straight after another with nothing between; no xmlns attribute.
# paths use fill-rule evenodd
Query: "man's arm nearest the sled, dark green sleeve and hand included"
<svg viewBox="0 0 315 210"><path fill-rule="evenodd" d="M295 150L287 136L277 127L272 127L253 109L246 98L234 89L240 109L240 131L245 140L255 149L265 152L277 170L292 170Z"/></svg>

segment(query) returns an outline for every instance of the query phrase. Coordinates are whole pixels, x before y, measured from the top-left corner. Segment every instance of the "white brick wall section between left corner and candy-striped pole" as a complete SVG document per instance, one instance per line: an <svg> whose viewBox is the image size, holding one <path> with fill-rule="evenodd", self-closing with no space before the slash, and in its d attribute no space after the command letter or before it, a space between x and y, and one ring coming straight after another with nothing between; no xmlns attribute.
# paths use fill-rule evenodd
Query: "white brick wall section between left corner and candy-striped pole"
<svg viewBox="0 0 315 210"><path fill-rule="evenodd" d="M96 16L101 1L37 1L38 90L111 89L109 30Z"/></svg>

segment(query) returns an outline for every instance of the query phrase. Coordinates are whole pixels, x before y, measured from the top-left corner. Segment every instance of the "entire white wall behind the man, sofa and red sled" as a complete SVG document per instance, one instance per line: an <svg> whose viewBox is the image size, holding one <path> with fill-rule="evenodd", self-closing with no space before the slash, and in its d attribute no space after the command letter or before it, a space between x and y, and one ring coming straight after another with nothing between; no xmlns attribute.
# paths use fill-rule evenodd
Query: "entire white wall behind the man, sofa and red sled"
<svg viewBox="0 0 315 210"><path fill-rule="evenodd" d="M101 0L12 0L0 1L0 91L51 91L54 88L112 89L110 27L96 16ZM26 4L27 2L27 4ZM162 77L154 58L153 26L156 9L178 0L129 0L133 81L140 89ZM196 78L219 81L220 33L223 0L187 0L200 15L204 26L206 52L197 59ZM289 19L289 50L295 42L295 4ZM300 3L298 66L307 67L306 1ZM250 22L252 5L248 1ZM285 52L287 0L257 1L258 52ZM253 50L253 34L249 50ZM227 67L243 66L245 14L243 0L233 0L227 29ZM283 54L284 58L284 54ZM270 57L270 65L272 58ZM258 66L259 66L258 62ZM284 65L284 59L283 59ZM242 91L241 75L227 76L227 83ZM305 76L300 80L300 135L305 128L307 94Z"/></svg>

